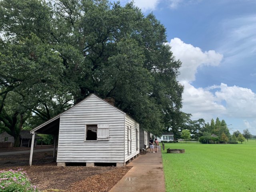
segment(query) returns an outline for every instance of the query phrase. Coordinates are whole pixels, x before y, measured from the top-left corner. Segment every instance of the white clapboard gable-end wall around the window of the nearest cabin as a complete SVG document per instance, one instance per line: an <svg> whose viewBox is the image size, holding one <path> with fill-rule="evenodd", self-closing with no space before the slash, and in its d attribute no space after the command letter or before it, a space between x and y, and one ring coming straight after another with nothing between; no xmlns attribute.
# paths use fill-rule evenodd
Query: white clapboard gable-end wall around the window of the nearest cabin
<svg viewBox="0 0 256 192"><path fill-rule="evenodd" d="M95 95L60 116L57 162L124 162L124 112ZM109 124L109 140L84 141L86 124Z"/></svg>

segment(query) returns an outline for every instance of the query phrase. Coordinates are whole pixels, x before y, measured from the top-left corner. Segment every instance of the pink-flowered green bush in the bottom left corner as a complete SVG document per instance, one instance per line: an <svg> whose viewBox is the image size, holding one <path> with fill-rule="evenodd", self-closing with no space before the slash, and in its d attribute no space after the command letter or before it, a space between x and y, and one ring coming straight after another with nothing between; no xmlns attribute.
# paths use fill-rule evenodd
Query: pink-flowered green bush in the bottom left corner
<svg viewBox="0 0 256 192"><path fill-rule="evenodd" d="M0 171L0 192L38 192L22 169Z"/></svg>

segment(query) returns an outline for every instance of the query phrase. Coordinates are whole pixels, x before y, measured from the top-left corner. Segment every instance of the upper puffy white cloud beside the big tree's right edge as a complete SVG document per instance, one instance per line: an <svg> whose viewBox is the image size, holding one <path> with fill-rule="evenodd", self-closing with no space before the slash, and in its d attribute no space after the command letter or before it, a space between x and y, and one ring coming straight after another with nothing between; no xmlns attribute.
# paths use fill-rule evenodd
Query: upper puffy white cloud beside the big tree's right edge
<svg viewBox="0 0 256 192"><path fill-rule="evenodd" d="M186 44L179 38L170 41L171 51L176 59L182 62L180 76L178 80L192 82L195 80L195 74L200 66L218 66L223 55L216 53L214 50L202 52L199 47Z"/></svg>

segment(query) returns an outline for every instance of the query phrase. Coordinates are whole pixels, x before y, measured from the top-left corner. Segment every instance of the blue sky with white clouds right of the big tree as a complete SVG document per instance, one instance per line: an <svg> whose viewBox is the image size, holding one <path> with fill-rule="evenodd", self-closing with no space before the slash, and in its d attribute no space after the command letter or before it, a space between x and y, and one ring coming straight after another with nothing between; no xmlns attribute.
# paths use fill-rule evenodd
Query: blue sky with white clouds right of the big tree
<svg viewBox="0 0 256 192"><path fill-rule="evenodd" d="M122 5L130 0L120 0ZM182 62L182 111L256 135L256 0L134 0Z"/></svg>

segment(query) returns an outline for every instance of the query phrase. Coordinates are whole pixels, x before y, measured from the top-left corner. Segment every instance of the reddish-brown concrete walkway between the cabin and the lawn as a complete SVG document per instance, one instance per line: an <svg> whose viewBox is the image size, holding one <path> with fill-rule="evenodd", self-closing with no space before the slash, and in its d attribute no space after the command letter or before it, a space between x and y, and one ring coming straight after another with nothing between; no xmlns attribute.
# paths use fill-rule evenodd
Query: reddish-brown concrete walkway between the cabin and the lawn
<svg viewBox="0 0 256 192"><path fill-rule="evenodd" d="M165 192L160 146L157 153L138 156L127 166L133 166L110 192Z"/></svg>

